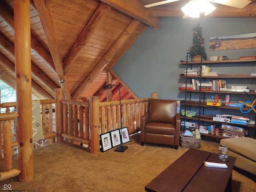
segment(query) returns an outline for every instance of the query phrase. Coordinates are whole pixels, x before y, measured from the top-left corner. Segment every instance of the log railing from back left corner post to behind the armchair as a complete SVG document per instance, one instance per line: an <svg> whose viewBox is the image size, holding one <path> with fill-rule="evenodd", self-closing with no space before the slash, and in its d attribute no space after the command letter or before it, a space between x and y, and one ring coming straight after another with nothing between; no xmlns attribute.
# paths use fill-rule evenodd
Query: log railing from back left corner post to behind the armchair
<svg viewBox="0 0 256 192"><path fill-rule="evenodd" d="M153 93L152 98L157 94ZM61 136L69 142L87 144L91 153L98 153L100 134L121 128L121 124L128 127L129 134L140 131L140 117L146 112L147 102L148 98L121 100L120 114L119 101L99 102L96 96L91 96L89 102L63 99Z"/></svg>

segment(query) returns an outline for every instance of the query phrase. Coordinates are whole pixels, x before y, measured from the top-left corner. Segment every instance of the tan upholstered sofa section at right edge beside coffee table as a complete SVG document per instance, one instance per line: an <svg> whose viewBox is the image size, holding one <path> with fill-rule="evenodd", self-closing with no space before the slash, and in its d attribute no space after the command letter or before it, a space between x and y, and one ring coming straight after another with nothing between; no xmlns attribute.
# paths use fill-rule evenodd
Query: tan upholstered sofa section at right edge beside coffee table
<svg viewBox="0 0 256 192"><path fill-rule="evenodd" d="M228 156L236 157L235 166L256 176L256 139L249 137L227 138L220 144L228 147Z"/></svg>

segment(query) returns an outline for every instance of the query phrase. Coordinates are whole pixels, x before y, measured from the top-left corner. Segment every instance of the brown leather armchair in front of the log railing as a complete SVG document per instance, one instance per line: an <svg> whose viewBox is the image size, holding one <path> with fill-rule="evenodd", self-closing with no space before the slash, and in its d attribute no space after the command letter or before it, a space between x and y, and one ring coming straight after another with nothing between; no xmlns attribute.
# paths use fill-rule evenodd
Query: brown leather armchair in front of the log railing
<svg viewBox="0 0 256 192"><path fill-rule="evenodd" d="M148 110L141 117L140 141L174 146L180 140L180 101L149 99Z"/></svg>

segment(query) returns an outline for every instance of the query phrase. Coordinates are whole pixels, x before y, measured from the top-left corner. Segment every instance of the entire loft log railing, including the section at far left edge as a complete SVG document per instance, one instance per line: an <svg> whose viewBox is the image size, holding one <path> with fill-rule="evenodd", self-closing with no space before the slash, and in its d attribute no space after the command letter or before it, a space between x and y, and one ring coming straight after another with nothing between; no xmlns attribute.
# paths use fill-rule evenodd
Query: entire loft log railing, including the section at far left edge
<svg viewBox="0 0 256 192"><path fill-rule="evenodd" d="M153 93L152 98L157 98L157 94ZM148 98L122 100L120 106L119 101L99 102L96 96L91 96L89 102L64 100L63 90L58 88L55 99L40 100L44 139L60 142L66 138L70 142L88 144L90 152L96 154L100 152L100 134L120 128L121 123L122 127L128 127L129 134L140 131L140 117L146 112L147 102ZM12 147L18 142L10 139L10 121L14 121L18 114L10 112L11 107L15 108L16 102L1 104L1 108L6 108L6 113L0 113L0 122L4 122L1 147L6 171L0 173L0 181L20 174L20 170L12 169Z"/></svg>

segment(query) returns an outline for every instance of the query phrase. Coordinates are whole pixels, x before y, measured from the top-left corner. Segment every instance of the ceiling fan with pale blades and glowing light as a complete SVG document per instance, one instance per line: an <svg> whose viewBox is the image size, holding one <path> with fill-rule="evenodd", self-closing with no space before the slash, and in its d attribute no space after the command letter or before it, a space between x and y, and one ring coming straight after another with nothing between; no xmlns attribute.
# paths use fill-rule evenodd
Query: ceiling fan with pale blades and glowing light
<svg viewBox="0 0 256 192"><path fill-rule="evenodd" d="M179 0L165 0L160 1L152 4L145 5L146 8L163 5L166 3L172 3ZM231 6L235 8L243 8L248 5L250 0L190 0L188 4L181 8L182 12L184 12L186 17L200 17L200 13L204 12L205 15L209 14L210 12L214 11L216 7L214 7L210 2L218 3L226 6Z"/></svg>

